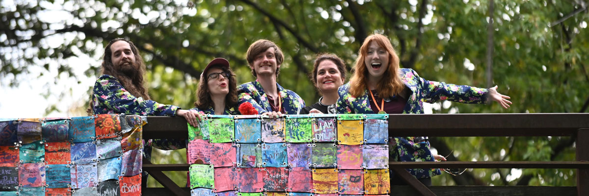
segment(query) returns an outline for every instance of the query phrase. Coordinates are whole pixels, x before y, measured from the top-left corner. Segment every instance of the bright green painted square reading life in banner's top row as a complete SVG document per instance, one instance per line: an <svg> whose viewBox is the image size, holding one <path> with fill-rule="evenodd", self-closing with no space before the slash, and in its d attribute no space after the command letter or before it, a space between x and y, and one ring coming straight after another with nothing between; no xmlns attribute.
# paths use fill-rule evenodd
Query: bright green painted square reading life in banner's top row
<svg viewBox="0 0 589 196"><path fill-rule="evenodd" d="M311 118L289 118L286 119L286 141L288 142L311 142L312 135Z"/></svg>

